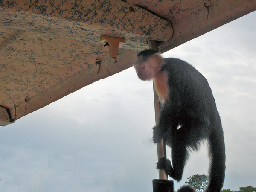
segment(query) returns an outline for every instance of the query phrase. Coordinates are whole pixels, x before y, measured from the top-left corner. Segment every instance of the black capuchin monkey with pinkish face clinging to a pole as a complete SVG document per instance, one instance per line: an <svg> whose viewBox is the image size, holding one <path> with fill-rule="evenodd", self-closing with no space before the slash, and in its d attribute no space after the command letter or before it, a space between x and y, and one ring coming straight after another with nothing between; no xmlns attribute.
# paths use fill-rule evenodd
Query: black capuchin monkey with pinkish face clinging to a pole
<svg viewBox="0 0 256 192"><path fill-rule="evenodd" d="M162 58L154 50L139 52L134 67L143 81L153 79L161 102L159 124L153 128L154 143L163 138L170 146L172 163L161 158L164 169L180 181L189 150L198 151L208 141L209 175L205 192L220 192L225 177L225 144L221 119L207 80L190 64L176 58ZM181 186L178 192L195 192Z"/></svg>

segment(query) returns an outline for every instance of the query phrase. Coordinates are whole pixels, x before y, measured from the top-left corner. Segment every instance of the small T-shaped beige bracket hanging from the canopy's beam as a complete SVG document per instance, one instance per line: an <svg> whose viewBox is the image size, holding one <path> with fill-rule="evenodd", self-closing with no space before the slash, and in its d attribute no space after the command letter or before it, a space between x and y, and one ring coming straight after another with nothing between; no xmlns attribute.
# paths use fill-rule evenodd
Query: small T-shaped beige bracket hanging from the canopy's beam
<svg viewBox="0 0 256 192"><path fill-rule="evenodd" d="M99 40L108 46L110 58L117 58L119 45L125 43L125 39L109 36L102 36Z"/></svg>

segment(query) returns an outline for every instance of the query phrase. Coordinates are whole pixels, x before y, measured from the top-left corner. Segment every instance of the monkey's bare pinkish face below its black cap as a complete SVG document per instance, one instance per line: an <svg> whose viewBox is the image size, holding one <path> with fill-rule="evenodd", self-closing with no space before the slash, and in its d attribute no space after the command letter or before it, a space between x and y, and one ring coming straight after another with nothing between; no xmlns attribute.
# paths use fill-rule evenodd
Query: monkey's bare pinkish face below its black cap
<svg viewBox="0 0 256 192"><path fill-rule="evenodd" d="M154 65L151 64L149 58L137 57L134 68L138 77L143 81L149 81L155 75Z"/></svg>

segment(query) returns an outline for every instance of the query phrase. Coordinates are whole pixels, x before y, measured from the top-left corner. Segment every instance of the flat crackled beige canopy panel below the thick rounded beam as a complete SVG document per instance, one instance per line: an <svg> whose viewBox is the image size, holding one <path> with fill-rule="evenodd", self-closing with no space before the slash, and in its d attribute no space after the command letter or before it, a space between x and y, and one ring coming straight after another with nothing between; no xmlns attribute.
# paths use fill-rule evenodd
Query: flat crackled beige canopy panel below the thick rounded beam
<svg viewBox="0 0 256 192"><path fill-rule="evenodd" d="M136 52L119 49L125 58L121 62L119 56L111 60L108 54L108 48L101 44L26 32L0 54L0 105L9 109L12 120L19 119L126 69L133 64ZM96 59L101 61L99 73ZM16 117L14 105L18 106Z"/></svg>

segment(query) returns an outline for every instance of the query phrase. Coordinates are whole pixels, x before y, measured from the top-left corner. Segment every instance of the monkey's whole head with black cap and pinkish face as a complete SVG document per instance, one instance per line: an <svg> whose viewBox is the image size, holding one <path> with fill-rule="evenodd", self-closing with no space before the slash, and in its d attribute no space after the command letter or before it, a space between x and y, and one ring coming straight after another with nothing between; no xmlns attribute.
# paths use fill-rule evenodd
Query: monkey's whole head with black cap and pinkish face
<svg viewBox="0 0 256 192"><path fill-rule="evenodd" d="M163 59L157 52L147 49L138 53L134 68L141 80L149 81L160 72L162 63Z"/></svg>

